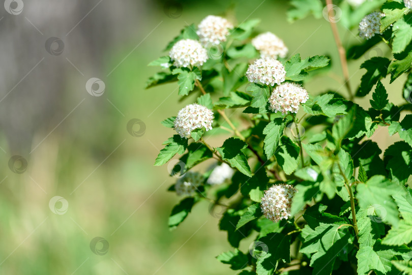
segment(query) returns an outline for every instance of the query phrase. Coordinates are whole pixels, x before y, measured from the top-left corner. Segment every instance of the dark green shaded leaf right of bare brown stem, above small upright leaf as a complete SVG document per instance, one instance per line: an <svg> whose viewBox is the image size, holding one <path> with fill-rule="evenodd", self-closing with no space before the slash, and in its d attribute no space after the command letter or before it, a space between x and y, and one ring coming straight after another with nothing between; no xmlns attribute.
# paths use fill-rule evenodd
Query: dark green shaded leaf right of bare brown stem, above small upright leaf
<svg viewBox="0 0 412 275"><path fill-rule="evenodd" d="M361 86L357 96L364 97L369 94L373 85L375 85L380 78L386 77L390 63L391 61L388 58L378 56L366 60L361 65L361 69L366 69L367 72L361 78Z"/></svg>

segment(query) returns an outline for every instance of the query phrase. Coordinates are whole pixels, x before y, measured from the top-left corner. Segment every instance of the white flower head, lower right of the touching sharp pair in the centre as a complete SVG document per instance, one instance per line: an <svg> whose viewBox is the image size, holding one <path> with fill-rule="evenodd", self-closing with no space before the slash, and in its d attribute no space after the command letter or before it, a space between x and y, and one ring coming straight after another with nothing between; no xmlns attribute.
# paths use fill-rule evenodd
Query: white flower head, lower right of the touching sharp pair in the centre
<svg viewBox="0 0 412 275"><path fill-rule="evenodd" d="M285 82L273 90L269 103L272 111L275 113L280 111L286 114L288 111L297 113L299 104L305 103L308 100L308 92L297 83Z"/></svg>

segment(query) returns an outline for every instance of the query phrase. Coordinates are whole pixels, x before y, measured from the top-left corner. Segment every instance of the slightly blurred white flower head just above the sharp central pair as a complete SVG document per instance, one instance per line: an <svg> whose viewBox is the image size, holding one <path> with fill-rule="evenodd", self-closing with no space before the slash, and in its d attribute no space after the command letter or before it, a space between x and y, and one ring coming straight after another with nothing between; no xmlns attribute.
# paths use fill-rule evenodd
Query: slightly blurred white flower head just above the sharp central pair
<svg viewBox="0 0 412 275"><path fill-rule="evenodd" d="M267 32L252 39L252 45L260 51L260 57L286 57L287 48L283 40Z"/></svg>

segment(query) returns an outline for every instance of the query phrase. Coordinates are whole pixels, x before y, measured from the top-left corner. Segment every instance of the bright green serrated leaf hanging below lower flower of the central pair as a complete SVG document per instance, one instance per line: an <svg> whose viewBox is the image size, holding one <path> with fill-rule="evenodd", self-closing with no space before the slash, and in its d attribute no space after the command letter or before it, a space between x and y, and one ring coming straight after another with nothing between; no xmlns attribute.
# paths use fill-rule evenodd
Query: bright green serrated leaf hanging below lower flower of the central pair
<svg viewBox="0 0 412 275"><path fill-rule="evenodd" d="M268 160L275 154L285 127L286 123L282 118L275 118L263 129L263 134L266 135L263 148Z"/></svg>

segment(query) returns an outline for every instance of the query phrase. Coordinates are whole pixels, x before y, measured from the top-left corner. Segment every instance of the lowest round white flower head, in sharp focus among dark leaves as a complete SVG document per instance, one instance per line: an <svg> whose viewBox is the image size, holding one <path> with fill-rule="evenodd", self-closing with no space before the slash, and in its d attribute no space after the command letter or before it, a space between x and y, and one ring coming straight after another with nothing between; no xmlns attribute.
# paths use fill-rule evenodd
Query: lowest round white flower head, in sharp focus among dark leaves
<svg viewBox="0 0 412 275"><path fill-rule="evenodd" d="M298 192L291 185L274 185L264 191L260 208L264 217L276 223L290 216L293 195Z"/></svg>

